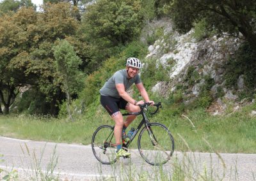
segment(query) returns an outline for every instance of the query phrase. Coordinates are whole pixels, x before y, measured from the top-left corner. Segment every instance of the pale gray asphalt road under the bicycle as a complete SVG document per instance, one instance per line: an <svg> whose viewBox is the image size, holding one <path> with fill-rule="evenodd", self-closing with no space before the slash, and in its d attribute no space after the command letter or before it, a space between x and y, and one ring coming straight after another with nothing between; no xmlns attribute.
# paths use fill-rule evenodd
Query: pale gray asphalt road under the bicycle
<svg viewBox="0 0 256 181"><path fill-rule="evenodd" d="M17 140L0 136L0 168L5 171L17 170L19 180L36 180L40 171L43 175L51 176L51 168L54 168L54 177L60 180L103 180L109 177L114 177L113 180L138 180L138 175L150 175L154 180L161 180L159 175L163 173L169 178L177 177L177 168L182 168L191 175L189 178L195 180L205 177L205 173L213 180L256 179L256 154L218 156L175 152L172 160L159 168L145 163L137 150L130 151L131 159L120 159L109 166L95 159L90 145ZM6 174L2 171L0 180Z"/></svg>

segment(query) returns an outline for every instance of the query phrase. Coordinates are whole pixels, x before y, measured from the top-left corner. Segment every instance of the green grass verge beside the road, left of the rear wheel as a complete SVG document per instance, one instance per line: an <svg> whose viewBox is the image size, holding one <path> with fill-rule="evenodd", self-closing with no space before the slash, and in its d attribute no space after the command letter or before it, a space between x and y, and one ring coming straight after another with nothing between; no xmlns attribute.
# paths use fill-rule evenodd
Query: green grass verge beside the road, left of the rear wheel
<svg viewBox="0 0 256 181"><path fill-rule="evenodd" d="M66 122L36 117L0 117L2 136L65 143L90 143L92 127L83 121Z"/></svg>

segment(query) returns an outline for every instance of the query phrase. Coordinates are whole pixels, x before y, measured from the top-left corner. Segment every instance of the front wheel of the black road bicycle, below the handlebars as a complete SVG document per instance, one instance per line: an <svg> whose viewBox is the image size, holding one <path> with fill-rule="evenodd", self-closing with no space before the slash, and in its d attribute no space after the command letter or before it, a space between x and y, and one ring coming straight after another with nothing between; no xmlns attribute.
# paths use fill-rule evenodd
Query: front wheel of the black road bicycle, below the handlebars
<svg viewBox="0 0 256 181"><path fill-rule="evenodd" d="M174 140L166 126L149 123L143 127L138 138L138 149L141 157L151 165L167 163L172 157Z"/></svg>

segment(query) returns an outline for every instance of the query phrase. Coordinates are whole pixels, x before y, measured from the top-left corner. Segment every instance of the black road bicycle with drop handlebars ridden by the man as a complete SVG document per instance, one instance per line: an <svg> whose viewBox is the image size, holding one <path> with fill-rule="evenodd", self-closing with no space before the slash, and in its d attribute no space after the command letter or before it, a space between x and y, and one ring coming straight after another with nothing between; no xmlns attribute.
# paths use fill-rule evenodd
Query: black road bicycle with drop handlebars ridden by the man
<svg viewBox="0 0 256 181"><path fill-rule="evenodd" d="M138 150L141 157L151 165L161 165L167 163L173 155L174 140L166 126L157 122L150 122L146 112L150 103L140 106L140 112L123 113L122 115L142 115L142 120L131 135L130 141L123 141L122 147L128 151L135 136L138 135ZM156 110L150 113L154 115L162 108L161 103L157 103ZM94 156L102 164L113 164L116 159L116 144L114 136L114 126L102 125L96 129L92 136L92 151Z"/></svg>

